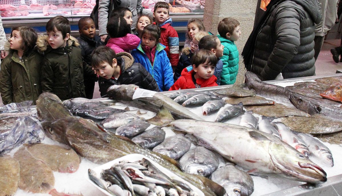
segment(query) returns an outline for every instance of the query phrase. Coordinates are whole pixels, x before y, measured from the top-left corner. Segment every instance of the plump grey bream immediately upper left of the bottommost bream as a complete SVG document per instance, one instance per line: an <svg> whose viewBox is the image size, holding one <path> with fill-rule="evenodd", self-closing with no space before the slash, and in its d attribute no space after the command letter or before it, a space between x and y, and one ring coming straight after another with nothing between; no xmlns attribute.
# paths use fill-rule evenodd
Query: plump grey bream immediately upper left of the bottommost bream
<svg viewBox="0 0 342 196"><path fill-rule="evenodd" d="M186 173L209 176L219 167L219 159L207 148L197 146L185 153L179 164Z"/></svg>

